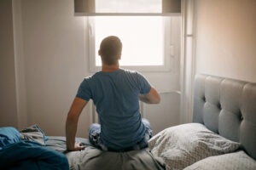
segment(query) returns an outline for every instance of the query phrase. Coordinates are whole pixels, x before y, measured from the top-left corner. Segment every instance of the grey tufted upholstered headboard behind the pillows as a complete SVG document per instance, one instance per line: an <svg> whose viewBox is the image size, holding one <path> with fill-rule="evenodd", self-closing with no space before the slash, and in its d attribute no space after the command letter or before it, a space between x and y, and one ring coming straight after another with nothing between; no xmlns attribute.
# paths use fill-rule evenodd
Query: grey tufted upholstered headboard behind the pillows
<svg viewBox="0 0 256 170"><path fill-rule="evenodd" d="M241 143L256 159L256 83L197 75L193 112L193 122Z"/></svg>

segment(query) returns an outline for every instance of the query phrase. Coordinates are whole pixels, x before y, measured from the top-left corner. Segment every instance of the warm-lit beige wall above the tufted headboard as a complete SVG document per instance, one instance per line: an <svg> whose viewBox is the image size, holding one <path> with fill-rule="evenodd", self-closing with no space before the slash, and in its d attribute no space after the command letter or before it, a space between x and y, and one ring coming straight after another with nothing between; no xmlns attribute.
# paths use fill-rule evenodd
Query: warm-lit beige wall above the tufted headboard
<svg viewBox="0 0 256 170"><path fill-rule="evenodd" d="M195 71L256 82L256 1L195 1Z"/></svg>

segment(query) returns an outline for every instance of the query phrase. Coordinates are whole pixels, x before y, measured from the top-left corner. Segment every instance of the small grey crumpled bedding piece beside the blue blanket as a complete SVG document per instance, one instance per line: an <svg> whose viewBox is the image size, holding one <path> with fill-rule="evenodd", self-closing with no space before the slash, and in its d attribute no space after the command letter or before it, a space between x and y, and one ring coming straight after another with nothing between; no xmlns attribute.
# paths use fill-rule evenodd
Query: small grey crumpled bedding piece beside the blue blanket
<svg viewBox="0 0 256 170"><path fill-rule="evenodd" d="M35 141L43 145L45 145L45 141L48 139L37 124L20 130L20 136L22 140Z"/></svg>

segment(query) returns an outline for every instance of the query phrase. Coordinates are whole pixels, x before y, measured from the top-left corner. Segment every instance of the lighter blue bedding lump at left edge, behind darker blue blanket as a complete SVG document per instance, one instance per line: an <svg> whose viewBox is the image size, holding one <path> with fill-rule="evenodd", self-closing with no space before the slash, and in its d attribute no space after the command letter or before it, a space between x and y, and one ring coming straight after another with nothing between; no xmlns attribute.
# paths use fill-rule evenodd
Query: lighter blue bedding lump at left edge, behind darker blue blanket
<svg viewBox="0 0 256 170"><path fill-rule="evenodd" d="M0 149L20 140L20 133L15 127L0 127Z"/></svg>

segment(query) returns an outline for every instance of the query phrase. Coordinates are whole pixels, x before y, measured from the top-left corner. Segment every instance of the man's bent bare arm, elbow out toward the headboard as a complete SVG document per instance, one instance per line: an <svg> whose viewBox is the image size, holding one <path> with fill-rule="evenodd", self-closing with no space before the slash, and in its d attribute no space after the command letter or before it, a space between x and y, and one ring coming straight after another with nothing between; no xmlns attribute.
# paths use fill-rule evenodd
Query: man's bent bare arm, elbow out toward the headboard
<svg viewBox="0 0 256 170"><path fill-rule="evenodd" d="M139 95L140 100L148 103L148 104L159 104L160 103L160 95L157 93L157 91L152 87L148 94Z"/></svg>

